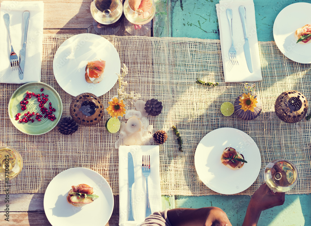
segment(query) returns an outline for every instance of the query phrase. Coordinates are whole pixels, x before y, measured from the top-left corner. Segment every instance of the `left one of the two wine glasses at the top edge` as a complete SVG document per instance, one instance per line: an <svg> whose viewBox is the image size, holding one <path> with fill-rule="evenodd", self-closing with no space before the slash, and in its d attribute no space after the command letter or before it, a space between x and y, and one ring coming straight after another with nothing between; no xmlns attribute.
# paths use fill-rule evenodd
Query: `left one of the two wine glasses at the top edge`
<svg viewBox="0 0 311 226"><path fill-rule="evenodd" d="M120 29L118 20L122 15L122 9L122 0L92 0L91 14L95 20L95 31L101 35L114 35ZM102 25L98 27L98 23Z"/></svg>

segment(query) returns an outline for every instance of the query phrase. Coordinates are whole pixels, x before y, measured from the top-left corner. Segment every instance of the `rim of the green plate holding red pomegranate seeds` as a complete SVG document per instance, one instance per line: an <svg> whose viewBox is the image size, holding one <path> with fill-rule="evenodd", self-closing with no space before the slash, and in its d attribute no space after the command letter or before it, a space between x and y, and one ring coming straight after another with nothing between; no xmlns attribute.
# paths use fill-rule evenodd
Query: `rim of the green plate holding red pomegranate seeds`
<svg viewBox="0 0 311 226"><path fill-rule="evenodd" d="M46 86L50 87L52 90L54 90L54 92L57 94L56 97L58 97L58 99L59 99L59 101L60 101L60 104L61 104L61 112L60 112L60 117L58 118L58 120L55 120L55 121L54 121L54 122L55 122L55 125L54 125L50 130L48 130L48 131L46 131L46 132L44 132L44 133L40 133L40 134L32 134L32 133L28 133L28 132L22 131L20 128L18 128L18 127L15 126L15 124L13 123L13 122L14 122L14 121L13 121L13 117L10 115L10 111L9 111L9 108L8 108L8 109L7 109L7 112L8 112L10 121L12 122L13 126L14 126L16 129L18 129L19 131L21 131L22 133L25 133L25 134L31 135L31 136L39 136L39 135L48 133L49 131L53 130L53 129L57 126L58 122L60 121L60 119L62 118L62 115L63 115L63 101L62 101L62 98L60 97L60 95L58 94L58 92L57 92L52 86L50 86L50 85L48 85L48 84L46 84L46 83L44 83L44 82L36 82L36 81L35 81L35 82L27 82L27 83L21 85L20 87L18 87L18 88L12 93L12 95L11 95L11 97L10 97L10 100L9 100L9 103L7 104L7 106L8 106L8 107L10 106L11 101L13 101L13 100L12 100L12 96L13 96L19 89L21 89L22 87L25 87L25 86L27 86L27 85L31 85L31 84L35 84L35 83L46 85ZM14 120L15 120L15 119L14 119Z"/></svg>

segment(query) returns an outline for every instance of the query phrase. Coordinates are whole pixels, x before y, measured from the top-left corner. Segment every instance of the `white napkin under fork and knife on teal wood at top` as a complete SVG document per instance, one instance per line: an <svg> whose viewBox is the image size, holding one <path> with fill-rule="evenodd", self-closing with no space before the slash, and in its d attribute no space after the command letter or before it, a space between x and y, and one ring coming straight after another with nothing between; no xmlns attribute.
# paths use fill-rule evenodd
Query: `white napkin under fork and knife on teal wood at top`
<svg viewBox="0 0 311 226"><path fill-rule="evenodd" d="M239 6L245 7L246 30L252 58L253 73L249 72L244 55L243 46L245 41L239 14ZM237 52L238 66L233 65L229 58L231 34L226 15L227 8L232 9L233 42ZM225 82L261 81L262 75L253 0L220 0L219 4L216 4L216 11L219 23L221 56Z"/></svg>

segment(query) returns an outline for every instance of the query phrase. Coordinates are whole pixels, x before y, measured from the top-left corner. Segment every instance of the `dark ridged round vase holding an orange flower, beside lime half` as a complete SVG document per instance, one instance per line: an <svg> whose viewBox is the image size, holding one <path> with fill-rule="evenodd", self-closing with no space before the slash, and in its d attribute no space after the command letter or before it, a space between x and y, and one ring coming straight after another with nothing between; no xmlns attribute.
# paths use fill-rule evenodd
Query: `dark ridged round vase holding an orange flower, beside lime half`
<svg viewBox="0 0 311 226"><path fill-rule="evenodd" d="M251 110L244 111L242 108L242 105L239 105L241 102L239 101L240 97L243 97L243 94L239 95L237 99L235 99L234 102L234 112L235 114L243 119L243 120L253 120L254 118L257 118L258 115L261 113L262 109L262 103L259 97L257 98L257 104L256 107L254 107L254 111L252 112Z"/></svg>

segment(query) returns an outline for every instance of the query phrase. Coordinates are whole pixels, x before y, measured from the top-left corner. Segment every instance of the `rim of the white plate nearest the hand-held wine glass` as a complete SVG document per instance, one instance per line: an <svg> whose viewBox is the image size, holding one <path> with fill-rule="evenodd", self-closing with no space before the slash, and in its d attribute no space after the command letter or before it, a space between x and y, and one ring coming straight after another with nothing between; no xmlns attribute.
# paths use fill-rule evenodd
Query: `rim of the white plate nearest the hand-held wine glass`
<svg viewBox="0 0 311 226"><path fill-rule="evenodd" d="M214 130L212 130L212 131L216 131L216 130L224 130L224 129L229 129L229 130L234 130L234 131L239 131L239 132L242 132L243 134L245 134L246 136L248 136L250 139L252 139L252 141L253 141L253 143L256 145L256 147L258 148L258 145L256 144L256 142L253 140L253 138L252 137L250 137L247 133L245 133L244 131L242 131L242 130L239 130L239 129L236 129L236 128L232 128L232 127L221 127L221 128L217 128L217 129L214 129ZM206 137L209 133L211 133L212 131L210 131L210 132L208 132L205 136L203 136L202 137L202 139L200 140L200 142L198 143L198 145L197 145L197 147L199 146L199 144L201 143L201 141L204 139L204 137ZM197 163L197 161L196 161L196 159L198 158L198 157L196 157L196 153L197 153L197 148L196 148L196 151L195 151L195 154L194 154L194 166L195 166L195 169L196 169L196 173L197 173L197 167L198 167L198 163ZM256 173L256 178L255 178L255 180L252 182L252 184L250 184L246 189L248 189L250 186L252 186L253 185L253 183L256 181L256 179L258 178L258 176L259 176L259 173L260 173L260 170L261 170L261 164L262 164L262 161L261 161L261 154L260 154L260 150L259 150L259 148L258 148L258 154L259 154L259 156L260 156L260 158L259 158L259 160L258 160L258 165L259 165L259 167L258 167L258 173ZM198 178L201 180L201 182L206 186L206 187L208 187L209 189L211 189L205 182L203 182L202 181L202 179L200 178L200 175L197 173L197 176L198 176ZM238 193L240 193L240 192L243 192L243 191L245 191L246 189L244 189L244 190L242 190L242 191L238 191L238 192L226 192L226 193L223 193L223 192L219 192L219 191L215 191L215 189L211 189L212 191L215 191L215 192L217 192L217 193L219 193L219 194L223 194L223 195L234 195L234 194L238 194ZM217 189L216 189L217 190Z"/></svg>

